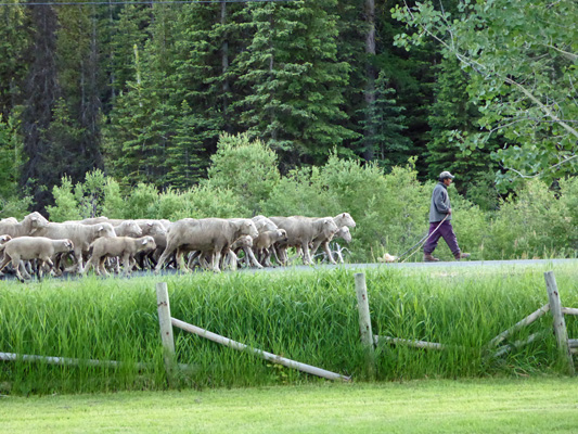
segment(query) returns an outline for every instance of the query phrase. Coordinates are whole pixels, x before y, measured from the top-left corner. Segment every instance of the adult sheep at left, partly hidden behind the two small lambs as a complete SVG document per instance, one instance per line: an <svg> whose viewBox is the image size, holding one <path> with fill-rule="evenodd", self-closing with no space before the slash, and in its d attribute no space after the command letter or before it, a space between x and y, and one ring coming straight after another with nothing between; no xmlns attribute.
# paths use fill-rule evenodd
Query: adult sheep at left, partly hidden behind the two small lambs
<svg viewBox="0 0 578 434"><path fill-rule="evenodd" d="M111 224L78 225L78 224L49 224L47 227L34 232L34 237L46 237L52 240L69 239L74 243L74 257L76 270L81 272L82 253L89 251L90 244L100 237L116 237Z"/></svg>

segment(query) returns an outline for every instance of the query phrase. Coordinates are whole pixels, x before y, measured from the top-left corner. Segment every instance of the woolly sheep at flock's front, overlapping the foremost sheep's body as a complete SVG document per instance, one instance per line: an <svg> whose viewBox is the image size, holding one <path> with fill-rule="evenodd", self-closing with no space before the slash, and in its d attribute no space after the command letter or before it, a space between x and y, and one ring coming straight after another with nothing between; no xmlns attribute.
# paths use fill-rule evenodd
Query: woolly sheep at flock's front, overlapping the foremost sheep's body
<svg viewBox="0 0 578 434"><path fill-rule="evenodd" d="M304 264L311 264L309 255L309 244L317 238L331 240L338 228L332 217L270 217L270 219L280 228L287 232L287 241L277 243L281 251L282 261L286 263L287 258L284 250L288 246L298 246L304 253Z"/></svg>

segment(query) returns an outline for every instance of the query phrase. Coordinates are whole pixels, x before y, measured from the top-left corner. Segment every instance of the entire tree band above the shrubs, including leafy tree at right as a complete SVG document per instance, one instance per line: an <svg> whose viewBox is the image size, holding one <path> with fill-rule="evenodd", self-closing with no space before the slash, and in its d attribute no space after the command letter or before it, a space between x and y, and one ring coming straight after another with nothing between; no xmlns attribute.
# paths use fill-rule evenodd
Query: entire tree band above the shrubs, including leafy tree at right
<svg viewBox="0 0 578 434"><path fill-rule="evenodd" d="M2 0L0 20L2 218L95 169L193 188L223 135L283 176L450 170L487 208L577 174L575 0Z"/></svg>

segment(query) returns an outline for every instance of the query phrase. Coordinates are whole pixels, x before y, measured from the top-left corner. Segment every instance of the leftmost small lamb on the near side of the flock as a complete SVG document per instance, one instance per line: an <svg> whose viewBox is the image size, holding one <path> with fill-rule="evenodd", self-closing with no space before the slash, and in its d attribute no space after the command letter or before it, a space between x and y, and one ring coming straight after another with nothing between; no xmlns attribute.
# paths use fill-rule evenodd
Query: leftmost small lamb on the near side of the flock
<svg viewBox="0 0 578 434"><path fill-rule="evenodd" d="M21 282L24 278L20 271L21 260L38 259L38 278L42 278L44 264L52 267L51 257L57 253L66 253L74 250L74 244L68 239L51 240L43 237L18 237L8 241L0 248L4 251L4 259L0 264L0 271L12 261L16 277Z"/></svg>

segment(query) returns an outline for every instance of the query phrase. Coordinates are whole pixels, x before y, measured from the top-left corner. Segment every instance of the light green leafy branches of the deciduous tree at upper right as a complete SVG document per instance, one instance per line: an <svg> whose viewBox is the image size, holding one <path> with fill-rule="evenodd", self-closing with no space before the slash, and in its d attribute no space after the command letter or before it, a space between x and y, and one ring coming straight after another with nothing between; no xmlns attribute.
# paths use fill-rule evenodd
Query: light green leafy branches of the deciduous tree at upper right
<svg viewBox="0 0 578 434"><path fill-rule="evenodd" d="M575 174L578 112L567 90L578 79L577 3L468 0L460 2L459 10L454 18L427 1L411 9L397 5L393 12L415 30L399 35L398 44L408 48L431 37L468 74L466 89L486 131L467 136L462 148L487 149L493 133L503 137L506 145L496 154L510 171L499 174L500 180L539 175L551 182Z"/></svg>

